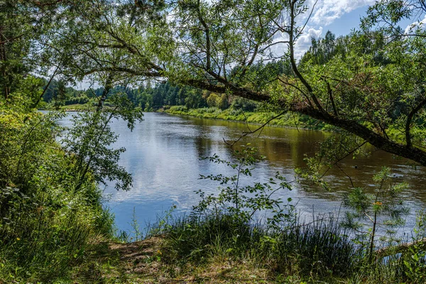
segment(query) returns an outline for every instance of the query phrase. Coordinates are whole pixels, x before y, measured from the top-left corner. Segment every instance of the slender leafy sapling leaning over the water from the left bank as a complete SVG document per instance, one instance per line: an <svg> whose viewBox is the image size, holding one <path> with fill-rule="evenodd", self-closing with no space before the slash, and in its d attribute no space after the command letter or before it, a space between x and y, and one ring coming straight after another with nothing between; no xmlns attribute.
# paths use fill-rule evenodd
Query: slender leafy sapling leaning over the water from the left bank
<svg viewBox="0 0 426 284"><path fill-rule="evenodd" d="M117 137L109 126L113 119L124 119L133 130L136 121L142 121L142 111L121 94L110 97L111 109L108 111L85 111L72 117L72 127L67 129L61 143L67 153L75 160L75 190L80 190L87 175L96 182L106 184L106 180L116 180L117 190L129 190L131 175L118 165L120 153L124 148L111 148Z"/></svg>

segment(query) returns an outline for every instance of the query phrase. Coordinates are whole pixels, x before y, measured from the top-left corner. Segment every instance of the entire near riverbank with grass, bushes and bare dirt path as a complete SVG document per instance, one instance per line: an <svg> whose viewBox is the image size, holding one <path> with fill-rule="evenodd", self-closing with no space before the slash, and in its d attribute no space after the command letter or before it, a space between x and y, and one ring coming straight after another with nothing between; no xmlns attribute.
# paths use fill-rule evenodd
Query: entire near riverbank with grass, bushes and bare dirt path
<svg viewBox="0 0 426 284"><path fill-rule="evenodd" d="M209 158L230 174L201 177L219 182L216 194L197 192L200 203L187 215L168 212L143 241L121 243L111 214L102 207L97 186L102 177L80 170L90 168L91 158L82 157L94 151L101 163L92 167L111 161L111 155L118 159L119 153L107 148L107 156L89 144L102 127L80 121L74 130L78 138L70 139L75 151L65 151L65 144L55 141L60 131L55 114L0 111L0 283L425 283L422 242L403 251L394 246L386 254L377 252L376 242L371 253L368 226L358 224L366 234L354 241L332 216L309 223L297 219L290 198L274 199L274 192L285 196L291 190L279 173L268 182L246 185L243 179L261 159L249 146L241 146L231 161ZM84 141L86 147L80 148ZM377 195L373 202L361 193L362 209L372 206L377 215L390 201ZM271 217L255 218L265 210ZM415 239L426 236L425 214L419 215L414 233Z"/></svg>

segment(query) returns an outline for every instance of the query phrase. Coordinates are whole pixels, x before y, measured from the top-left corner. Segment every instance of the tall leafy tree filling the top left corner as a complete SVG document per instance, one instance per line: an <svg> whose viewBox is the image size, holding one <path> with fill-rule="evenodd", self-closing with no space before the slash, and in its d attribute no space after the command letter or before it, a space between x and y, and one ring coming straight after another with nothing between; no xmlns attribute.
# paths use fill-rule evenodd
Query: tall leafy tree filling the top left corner
<svg viewBox="0 0 426 284"><path fill-rule="evenodd" d="M36 107L40 102L60 67L50 64L50 55L40 43L52 23L62 21L60 7L69 5L62 0L0 2L0 92L6 101L10 101L13 92L23 93L22 85L30 87L32 84L32 92L26 94L33 101L29 107ZM38 92L43 83L33 77L41 76L50 77L50 80L43 91Z"/></svg>

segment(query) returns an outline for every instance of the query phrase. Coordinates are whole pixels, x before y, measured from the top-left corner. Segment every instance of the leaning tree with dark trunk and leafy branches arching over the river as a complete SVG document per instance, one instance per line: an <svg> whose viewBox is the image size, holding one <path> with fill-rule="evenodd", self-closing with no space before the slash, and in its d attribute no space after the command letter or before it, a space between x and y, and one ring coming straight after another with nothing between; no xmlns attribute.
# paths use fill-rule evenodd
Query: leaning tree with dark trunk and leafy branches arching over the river
<svg viewBox="0 0 426 284"><path fill-rule="evenodd" d="M398 2L377 5L392 9ZM79 56L92 58L92 70L163 77L210 92L267 102L280 112L311 116L388 153L426 165L422 138L424 37L386 41L388 31L380 31L387 43L380 50L386 56L383 63L375 60L375 54L363 53L360 47L367 40L363 33L351 38L358 42L344 57L333 55L334 36L327 33L324 50L331 58L324 65L305 62L300 66L295 44L304 31L302 17L309 16L303 0L185 0L156 6L154 21L138 5L133 6L138 13L132 18L131 6L127 1L110 5L107 13L87 20L87 25L97 28L84 33L89 40L79 41L90 55ZM377 10L383 17L388 15L388 10ZM118 17L119 13L127 17ZM168 13L173 17L167 18ZM276 52L278 48L285 52ZM125 59L97 62L92 50L120 50ZM292 72L273 72L262 64L272 59L288 64Z"/></svg>

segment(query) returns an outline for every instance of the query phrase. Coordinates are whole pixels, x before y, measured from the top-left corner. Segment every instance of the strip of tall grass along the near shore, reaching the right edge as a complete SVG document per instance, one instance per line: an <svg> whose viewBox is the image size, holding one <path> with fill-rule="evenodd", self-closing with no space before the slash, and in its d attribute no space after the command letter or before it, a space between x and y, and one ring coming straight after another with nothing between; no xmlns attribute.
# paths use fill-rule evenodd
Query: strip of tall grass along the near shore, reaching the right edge
<svg viewBox="0 0 426 284"><path fill-rule="evenodd" d="M162 261L168 265L200 266L218 259L250 262L268 268L278 282L294 277L307 283L426 280L424 249L413 247L407 253L391 253L371 261L366 250L354 243L332 216L316 217L309 223L297 219L290 226L271 231L261 222L249 224L226 212L211 211L169 219L168 225L156 232L164 235Z"/></svg>

